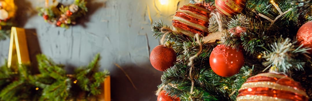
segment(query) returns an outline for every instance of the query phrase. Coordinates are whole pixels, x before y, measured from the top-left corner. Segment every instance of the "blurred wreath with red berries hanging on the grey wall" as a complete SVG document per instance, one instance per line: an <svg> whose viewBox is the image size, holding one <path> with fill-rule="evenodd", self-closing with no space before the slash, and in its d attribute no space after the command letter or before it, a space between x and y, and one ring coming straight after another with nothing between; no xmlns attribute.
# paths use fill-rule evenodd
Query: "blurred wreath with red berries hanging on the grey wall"
<svg viewBox="0 0 312 101"><path fill-rule="evenodd" d="M85 0L75 0L73 4L64 7L61 3L53 0L53 4L49 6L49 0L46 0L45 7L39 8L39 16L56 26L68 28L69 25L75 25L76 19L82 17L88 12Z"/></svg>

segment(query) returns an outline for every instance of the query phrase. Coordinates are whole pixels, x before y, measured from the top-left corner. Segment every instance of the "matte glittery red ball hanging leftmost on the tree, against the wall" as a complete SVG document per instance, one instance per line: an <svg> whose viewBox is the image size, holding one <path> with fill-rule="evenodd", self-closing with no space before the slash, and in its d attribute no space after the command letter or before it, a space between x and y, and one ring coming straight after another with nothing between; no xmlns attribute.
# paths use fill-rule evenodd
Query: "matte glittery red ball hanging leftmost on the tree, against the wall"
<svg viewBox="0 0 312 101"><path fill-rule="evenodd" d="M156 70L165 71L174 65L177 56L172 48L158 45L152 50L149 60Z"/></svg>

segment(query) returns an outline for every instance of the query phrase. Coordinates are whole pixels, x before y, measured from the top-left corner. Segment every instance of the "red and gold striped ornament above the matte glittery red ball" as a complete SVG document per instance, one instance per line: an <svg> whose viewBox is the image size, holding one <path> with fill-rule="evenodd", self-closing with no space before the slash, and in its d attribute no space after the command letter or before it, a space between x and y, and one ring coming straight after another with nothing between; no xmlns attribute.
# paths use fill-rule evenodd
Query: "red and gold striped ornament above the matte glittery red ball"
<svg viewBox="0 0 312 101"><path fill-rule="evenodd" d="M187 4L179 8L172 19L173 31L187 36L208 35L210 11L202 4Z"/></svg>

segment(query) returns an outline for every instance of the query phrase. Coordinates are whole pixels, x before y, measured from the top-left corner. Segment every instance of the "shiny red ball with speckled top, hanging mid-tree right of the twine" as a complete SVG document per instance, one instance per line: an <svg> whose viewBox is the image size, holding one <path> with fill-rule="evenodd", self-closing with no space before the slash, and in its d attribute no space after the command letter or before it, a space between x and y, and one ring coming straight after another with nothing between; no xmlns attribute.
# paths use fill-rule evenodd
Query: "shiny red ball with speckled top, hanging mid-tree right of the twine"
<svg viewBox="0 0 312 101"><path fill-rule="evenodd" d="M244 64L244 55L241 50L236 51L225 45L216 46L209 58L213 72L223 77L237 74Z"/></svg>

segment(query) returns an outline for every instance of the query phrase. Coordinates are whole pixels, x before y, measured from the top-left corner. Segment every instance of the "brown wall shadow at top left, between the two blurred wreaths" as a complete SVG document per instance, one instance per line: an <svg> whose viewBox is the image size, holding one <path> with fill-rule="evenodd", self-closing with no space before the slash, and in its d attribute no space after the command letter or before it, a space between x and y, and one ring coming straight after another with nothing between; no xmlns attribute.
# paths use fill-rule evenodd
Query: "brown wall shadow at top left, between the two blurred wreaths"
<svg viewBox="0 0 312 101"><path fill-rule="evenodd" d="M27 19L37 15L37 11L32 8L31 2L27 0L14 0L14 3L17 6L16 21L18 27L23 27Z"/></svg>

